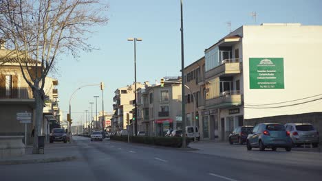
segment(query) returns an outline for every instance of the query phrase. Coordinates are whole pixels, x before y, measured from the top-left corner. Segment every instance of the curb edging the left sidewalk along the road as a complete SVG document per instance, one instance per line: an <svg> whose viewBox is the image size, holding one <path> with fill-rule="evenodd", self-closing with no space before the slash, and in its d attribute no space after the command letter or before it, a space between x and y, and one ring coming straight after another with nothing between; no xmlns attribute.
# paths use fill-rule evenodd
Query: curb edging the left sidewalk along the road
<svg viewBox="0 0 322 181"><path fill-rule="evenodd" d="M30 163L43 163L43 162L63 162L76 160L76 156L66 156L61 158L37 158L30 160L3 160L0 161L0 165L21 165L21 164L30 164Z"/></svg>

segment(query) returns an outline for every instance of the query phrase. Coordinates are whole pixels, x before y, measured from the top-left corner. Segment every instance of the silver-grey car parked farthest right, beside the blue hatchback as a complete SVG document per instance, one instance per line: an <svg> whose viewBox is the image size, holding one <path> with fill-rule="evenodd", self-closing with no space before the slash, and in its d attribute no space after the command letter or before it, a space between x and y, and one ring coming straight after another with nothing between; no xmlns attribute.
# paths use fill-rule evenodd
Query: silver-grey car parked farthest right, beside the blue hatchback
<svg viewBox="0 0 322 181"><path fill-rule="evenodd" d="M311 143L313 147L318 147L320 141L319 132L314 129L312 124L286 123L284 127L294 145L300 146L305 143Z"/></svg>

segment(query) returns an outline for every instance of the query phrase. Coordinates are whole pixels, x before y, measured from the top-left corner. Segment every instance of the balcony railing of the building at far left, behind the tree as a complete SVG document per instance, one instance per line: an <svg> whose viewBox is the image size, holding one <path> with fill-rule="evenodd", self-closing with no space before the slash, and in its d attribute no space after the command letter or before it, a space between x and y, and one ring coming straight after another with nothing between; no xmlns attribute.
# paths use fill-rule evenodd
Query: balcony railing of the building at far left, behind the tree
<svg viewBox="0 0 322 181"><path fill-rule="evenodd" d="M0 99L33 99L30 87L0 88Z"/></svg>

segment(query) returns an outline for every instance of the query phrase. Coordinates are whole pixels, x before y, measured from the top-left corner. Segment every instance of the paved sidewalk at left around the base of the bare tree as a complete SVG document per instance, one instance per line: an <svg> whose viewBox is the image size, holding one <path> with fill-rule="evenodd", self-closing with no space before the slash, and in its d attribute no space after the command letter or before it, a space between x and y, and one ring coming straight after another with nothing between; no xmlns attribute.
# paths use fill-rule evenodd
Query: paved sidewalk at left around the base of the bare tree
<svg viewBox="0 0 322 181"><path fill-rule="evenodd" d="M17 165L40 162L62 162L78 157L76 143L46 143L44 154L32 154L32 146L25 149L25 155L0 159L0 165Z"/></svg>

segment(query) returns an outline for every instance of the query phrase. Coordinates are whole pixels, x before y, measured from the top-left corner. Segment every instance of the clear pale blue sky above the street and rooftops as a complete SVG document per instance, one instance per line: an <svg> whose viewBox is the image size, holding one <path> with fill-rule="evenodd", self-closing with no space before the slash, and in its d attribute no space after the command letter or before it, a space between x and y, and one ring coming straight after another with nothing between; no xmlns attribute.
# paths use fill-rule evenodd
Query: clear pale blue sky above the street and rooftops
<svg viewBox="0 0 322 181"><path fill-rule="evenodd" d="M114 91L134 82L134 48L127 38L142 38L136 43L137 82L155 84L166 76L180 76L181 33L180 0L109 0L109 22L94 27L88 43L98 50L81 52L78 60L64 56L55 77L59 85L59 106L63 120L69 110L69 99L76 89L104 82L104 110L113 111ZM320 0L184 0L184 67L204 56L211 47L231 30L242 25L261 23L301 23L322 25ZM256 12L256 21L251 16ZM85 123L85 110L95 115L102 110L99 86L87 86L72 97L74 125Z"/></svg>

